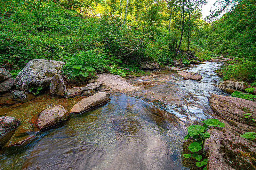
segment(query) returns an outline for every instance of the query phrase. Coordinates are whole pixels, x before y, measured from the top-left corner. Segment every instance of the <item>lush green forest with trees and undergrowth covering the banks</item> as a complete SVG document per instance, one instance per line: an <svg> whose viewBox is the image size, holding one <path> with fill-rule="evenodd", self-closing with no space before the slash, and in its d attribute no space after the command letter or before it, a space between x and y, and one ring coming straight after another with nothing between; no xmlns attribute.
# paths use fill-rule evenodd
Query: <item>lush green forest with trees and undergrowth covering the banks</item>
<svg viewBox="0 0 256 170"><path fill-rule="evenodd" d="M76 65L125 76L127 72L116 67L136 74L143 72L143 61L172 65L181 58L188 65L226 55L235 60L221 70L223 79L255 85L256 1L218 0L219 7L202 18L204 3L2 0L0 64L15 76L29 60L61 60L75 81L88 75L86 70L77 75L72 68Z"/></svg>

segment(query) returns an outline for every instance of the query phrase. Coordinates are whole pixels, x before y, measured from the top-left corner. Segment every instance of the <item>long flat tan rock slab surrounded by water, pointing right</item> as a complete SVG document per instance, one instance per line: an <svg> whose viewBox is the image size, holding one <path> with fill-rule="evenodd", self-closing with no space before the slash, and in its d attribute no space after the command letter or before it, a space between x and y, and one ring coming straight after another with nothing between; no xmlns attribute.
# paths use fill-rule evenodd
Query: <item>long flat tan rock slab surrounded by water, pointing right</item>
<svg viewBox="0 0 256 170"><path fill-rule="evenodd" d="M102 103L105 103L109 100L109 93L99 92L93 96L89 96L87 98L82 99L78 103L76 103L70 112L72 113L82 113L88 109L99 106Z"/></svg>

